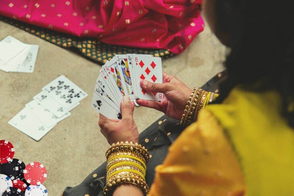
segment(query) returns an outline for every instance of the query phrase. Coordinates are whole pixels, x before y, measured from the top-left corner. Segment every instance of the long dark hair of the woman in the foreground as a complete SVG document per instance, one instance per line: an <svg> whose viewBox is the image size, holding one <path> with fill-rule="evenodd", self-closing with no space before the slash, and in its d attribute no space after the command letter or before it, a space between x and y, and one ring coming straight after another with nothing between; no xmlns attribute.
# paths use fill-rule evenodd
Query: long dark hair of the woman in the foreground
<svg viewBox="0 0 294 196"><path fill-rule="evenodd" d="M222 102L237 84L263 81L258 91L275 89L283 100L283 114L294 127L294 14L290 1L216 0L216 33L228 35L231 48L220 84Z"/></svg>

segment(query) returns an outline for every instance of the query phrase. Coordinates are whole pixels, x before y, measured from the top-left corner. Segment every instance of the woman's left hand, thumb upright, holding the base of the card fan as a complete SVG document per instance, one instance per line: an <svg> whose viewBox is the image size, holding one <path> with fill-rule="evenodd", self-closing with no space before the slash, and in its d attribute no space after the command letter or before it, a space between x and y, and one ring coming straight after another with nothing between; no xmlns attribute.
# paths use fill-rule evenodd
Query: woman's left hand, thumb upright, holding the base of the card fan
<svg viewBox="0 0 294 196"><path fill-rule="evenodd" d="M131 103L130 98L124 96L121 101L121 120L109 119L100 114L98 125L109 144L139 141L138 128L133 119L134 107L134 102Z"/></svg>

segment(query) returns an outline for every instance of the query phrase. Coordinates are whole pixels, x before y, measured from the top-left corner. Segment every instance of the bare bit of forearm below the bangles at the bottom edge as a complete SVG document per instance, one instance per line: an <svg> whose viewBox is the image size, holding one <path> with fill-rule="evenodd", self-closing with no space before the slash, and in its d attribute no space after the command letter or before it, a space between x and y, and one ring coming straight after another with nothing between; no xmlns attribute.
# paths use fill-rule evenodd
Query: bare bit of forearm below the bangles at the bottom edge
<svg viewBox="0 0 294 196"><path fill-rule="evenodd" d="M142 190L132 184L122 184L119 185L113 192L113 196L143 196Z"/></svg>

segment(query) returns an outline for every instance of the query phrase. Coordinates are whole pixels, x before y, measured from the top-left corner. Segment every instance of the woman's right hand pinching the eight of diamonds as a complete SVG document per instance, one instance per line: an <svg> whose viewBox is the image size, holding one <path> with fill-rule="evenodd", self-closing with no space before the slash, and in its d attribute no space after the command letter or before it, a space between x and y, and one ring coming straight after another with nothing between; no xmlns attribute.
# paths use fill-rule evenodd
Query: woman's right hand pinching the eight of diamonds
<svg viewBox="0 0 294 196"><path fill-rule="evenodd" d="M162 76L162 84L141 80L140 85L147 92L164 93L164 99L161 102L138 99L136 102L180 120L192 90L175 76L168 75L165 72L162 73Z"/></svg>

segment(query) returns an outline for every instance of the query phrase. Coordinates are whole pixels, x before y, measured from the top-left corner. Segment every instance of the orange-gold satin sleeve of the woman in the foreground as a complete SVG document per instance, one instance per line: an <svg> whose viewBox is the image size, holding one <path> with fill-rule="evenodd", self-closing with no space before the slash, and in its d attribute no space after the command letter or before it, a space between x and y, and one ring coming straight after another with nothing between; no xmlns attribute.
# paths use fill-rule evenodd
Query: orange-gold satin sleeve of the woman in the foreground
<svg viewBox="0 0 294 196"><path fill-rule="evenodd" d="M237 156L216 118L201 110L169 148L149 196L244 195Z"/></svg>

